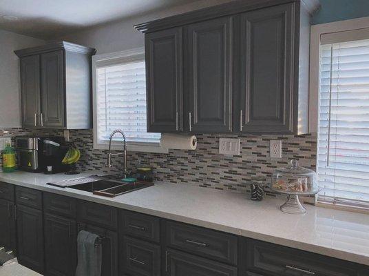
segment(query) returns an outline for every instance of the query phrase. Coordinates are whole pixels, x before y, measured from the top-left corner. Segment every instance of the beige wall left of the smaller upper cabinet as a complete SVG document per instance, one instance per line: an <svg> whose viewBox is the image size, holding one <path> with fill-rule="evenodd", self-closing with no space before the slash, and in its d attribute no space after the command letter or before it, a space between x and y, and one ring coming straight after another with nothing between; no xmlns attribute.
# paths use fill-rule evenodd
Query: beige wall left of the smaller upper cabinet
<svg viewBox="0 0 369 276"><path fill-rule="evenodd" d="M21 126L19 59L14 50L43 43L41 39L0 30L0 128Z"/></svg>

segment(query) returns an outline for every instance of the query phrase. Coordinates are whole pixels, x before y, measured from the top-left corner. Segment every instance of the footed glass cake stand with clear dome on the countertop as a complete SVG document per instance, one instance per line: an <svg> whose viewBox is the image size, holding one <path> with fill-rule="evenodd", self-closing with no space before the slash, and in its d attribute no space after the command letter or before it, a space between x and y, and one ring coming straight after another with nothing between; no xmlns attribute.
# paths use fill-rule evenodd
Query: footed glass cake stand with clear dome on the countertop
<svg viewBox="0 0 369 276"><path fill-rule="evenodd" d="M317 185L317 173L314 170L298 166L296 159L291 166L277 168L273 172L271 190L288 195L280 209L288 214L304 214L306 208L299 201L299 195L316 195L320 192Z"/></svg>

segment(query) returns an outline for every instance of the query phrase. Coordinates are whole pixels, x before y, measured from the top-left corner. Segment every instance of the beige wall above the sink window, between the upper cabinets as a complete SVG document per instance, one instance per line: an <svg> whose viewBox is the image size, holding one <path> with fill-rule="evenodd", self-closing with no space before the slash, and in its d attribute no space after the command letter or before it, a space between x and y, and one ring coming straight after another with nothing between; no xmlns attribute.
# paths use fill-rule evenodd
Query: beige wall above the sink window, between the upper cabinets
<svg viewBox="0 0 369 276"><path fill-rule="evenodd" d="M163 17L169 17L174 14L189 12L214 6L220 3L229 2L231 0L200 0L189 3L184 6L177 6L166 10L151 12L140 17L125 19L114 23L106 24L96 28L90 28L82 32L61 37L59 40L70 41L85 46L94 47L98 50L98 54L107 52L117 52L132 48L144 46L144 35L133 28L138 23L152 21Z"/></svg>

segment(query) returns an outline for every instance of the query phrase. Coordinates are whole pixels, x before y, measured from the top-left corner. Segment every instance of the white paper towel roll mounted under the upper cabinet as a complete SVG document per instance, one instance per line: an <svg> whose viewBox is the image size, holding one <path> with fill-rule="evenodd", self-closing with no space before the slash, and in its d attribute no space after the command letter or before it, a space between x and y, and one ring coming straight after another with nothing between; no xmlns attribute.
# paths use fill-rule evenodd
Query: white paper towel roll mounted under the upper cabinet
<svg viewBox="0 0 369 276"><path fill-rule="evenodd" d="M163 148L174 150L196 150L198 139L194 135L163 133L160 141Z"/></svg>

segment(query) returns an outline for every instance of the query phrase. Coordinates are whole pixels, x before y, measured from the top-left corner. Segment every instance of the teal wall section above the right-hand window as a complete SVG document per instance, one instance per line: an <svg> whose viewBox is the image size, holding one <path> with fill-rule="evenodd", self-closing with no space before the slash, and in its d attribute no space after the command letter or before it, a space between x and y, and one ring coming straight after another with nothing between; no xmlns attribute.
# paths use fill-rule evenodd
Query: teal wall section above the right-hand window
<svg viewBox="0 0 369 276"><path fill-rule="evenodd" d="M369 17L369 0L320 0L313 24Z"/></svg>

